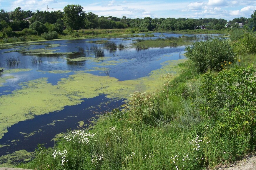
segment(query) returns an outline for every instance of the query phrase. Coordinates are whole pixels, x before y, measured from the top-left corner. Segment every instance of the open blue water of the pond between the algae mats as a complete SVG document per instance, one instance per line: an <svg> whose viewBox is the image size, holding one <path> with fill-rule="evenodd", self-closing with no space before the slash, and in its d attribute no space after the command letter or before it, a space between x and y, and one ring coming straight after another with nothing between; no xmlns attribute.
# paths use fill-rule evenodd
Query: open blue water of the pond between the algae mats
<svg viewBox="0 0 256 170"><path fill-rule="evenodd" d="M155 37L179 37L179 34L161 34L155 33ZM197 40L204 40L209 35L187 35L196 37ZM218 35L210 35L218 36ZM119 81L133 80L148 76L155 69L162 67L161 63L167 60L178 60L184 58L184 46L149 48L147 50L135 50L129 48L133 40L138 38L105 39L116 44L124 44L123 50L109 51L103 48L102 44L95 41L102 39L79 39L79 40L54 40L35 43L17 44L14 47L0 49L0 68L4 70L12 69L30 69L24 72L0 73L0 78L13 76L6 79L6 82L0 86L0 98L3 95L9 95L14 90L21 89L20 83L28 82L34 79L46 77L48 83L56 85L62 78L67 78L77 71L87 72L99 76L115 77ZM142 38L140 38L142 39ZM148 39L148 38L145 38ZM94 42L94 43L92 43ZM97 46L104 50L104 57L95 58L89 49ZM79 47L84 52L79 52ZM54 54L30 54L29 50L55 50ZM9 58L19 58L19 64L8 64ZM41 62L33 62L32 58L40 58ZM85 57L84 61L73 61L67 59L77 59ZM95 69L97 68L97 69ZM60 72L54 72L54 71ZM109 72L102 71L109 70ZM53 72L51 72L53 71ZM1 81L0 81L1 83ZM0 139L0 156L25 149L33 152L38 143L45 143L46 147L52 147L52 140L56 134L66 132L67 129L77 129L79 121L84 121L89 125L89 120L95 117L93 113L104 112L116 108L124 103L124 99L112 100L106 98L104 94L95 98L84 98L84 102L74 106L65 106L61 111L55 111L45 115L36 116L34 119L21 121L8 128L8 132ZM103 103L109 102L108 106ZM105 107L106 106L106 107ZM1 110L0 110L1 113ZM1 123L1 122L0 122ZM88 126L86 125L86 126ZM84 126L84 127L86 127ZM20 133L22 132L22 133ZM34 135L24 135L31 134Z"/></svg>

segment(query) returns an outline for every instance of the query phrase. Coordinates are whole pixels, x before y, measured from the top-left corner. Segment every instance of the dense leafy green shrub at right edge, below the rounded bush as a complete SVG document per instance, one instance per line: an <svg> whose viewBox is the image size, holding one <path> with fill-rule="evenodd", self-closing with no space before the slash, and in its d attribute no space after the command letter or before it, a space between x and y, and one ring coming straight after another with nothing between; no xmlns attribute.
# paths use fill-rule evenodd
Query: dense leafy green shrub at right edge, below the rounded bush
<svg viewBox="0 0 256 170"><path fill-rule="evenodd" d="M249 138L255 147L256 70L253 66L222 71L216 77L203 75L200 113L213 119L213 132L232 138Z"/></svg>

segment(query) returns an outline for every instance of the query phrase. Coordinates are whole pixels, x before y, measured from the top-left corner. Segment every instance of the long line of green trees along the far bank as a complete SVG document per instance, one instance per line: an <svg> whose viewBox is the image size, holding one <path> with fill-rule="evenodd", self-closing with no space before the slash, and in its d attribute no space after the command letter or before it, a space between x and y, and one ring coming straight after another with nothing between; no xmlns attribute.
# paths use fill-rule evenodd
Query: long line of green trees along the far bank
<svg viewBox="0 0 256 170"><path fill-rule="evenodd" d="M252 16L255 15L255 12ZM29 21L29 22L28 22ZM255 22L252 18L234 18L229 21L236 27L236 22L243 23L248 28L253 28ZM221 30L225 28L227 20L216 18L117 18L113 16L98 16L92 12L85 13L80 5L67 5L63 11L24 11L17 7L12 12L0 10L0 38L11 37L12 31L23 31L24 34L48 33L55 31L62 33L63 29L114 29L114 28L137 28L140 32L145 31L173 31L192 30L197 26L205 25L207 29Z"/></svg>

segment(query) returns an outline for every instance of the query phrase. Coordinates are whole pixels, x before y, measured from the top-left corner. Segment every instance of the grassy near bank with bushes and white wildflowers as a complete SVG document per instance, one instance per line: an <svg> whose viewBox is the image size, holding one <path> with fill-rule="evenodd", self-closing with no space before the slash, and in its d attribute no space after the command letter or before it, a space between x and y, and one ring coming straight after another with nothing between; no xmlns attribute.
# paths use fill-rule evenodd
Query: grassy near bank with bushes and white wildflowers
<svg viewBox="0 0 256 170"><path fill-rule="evenodd" d="M124 109L104 113L91 130L68 131L53 148L39 146L35 159L19 167L213 169L254 152L256 37L248 36L194 43L179 76L159 75L161 89L134 92Z"/></svg>

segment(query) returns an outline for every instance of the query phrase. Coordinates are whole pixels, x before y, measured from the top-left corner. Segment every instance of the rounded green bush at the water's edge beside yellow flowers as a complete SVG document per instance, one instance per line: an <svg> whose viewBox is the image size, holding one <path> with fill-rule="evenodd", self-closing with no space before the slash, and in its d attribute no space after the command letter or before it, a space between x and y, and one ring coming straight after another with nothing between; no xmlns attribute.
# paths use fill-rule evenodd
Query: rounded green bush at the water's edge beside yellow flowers
<svg viewBox="0 0 256 170"><path fill-rule="evenodd" d="M185 51L190 67L199 73L221 70L221 63L235 61L235 53L229 41L223 38L195 42L192 46L186 47Z"/></svg>

